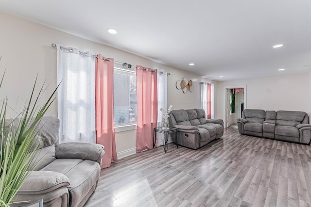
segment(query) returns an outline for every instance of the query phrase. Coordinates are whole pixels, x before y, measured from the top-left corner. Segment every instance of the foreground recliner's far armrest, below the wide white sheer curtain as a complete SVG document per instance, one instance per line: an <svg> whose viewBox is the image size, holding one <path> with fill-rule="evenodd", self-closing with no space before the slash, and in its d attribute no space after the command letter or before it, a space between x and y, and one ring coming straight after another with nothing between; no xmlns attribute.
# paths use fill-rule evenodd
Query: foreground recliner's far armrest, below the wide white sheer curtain
<svg viewBox="0 0 311 207"><path fill-rule="evenodd" d="M61 143L56 147L56 159L88 159L100 163L104 155L104 146L95 143Z"/></svg>

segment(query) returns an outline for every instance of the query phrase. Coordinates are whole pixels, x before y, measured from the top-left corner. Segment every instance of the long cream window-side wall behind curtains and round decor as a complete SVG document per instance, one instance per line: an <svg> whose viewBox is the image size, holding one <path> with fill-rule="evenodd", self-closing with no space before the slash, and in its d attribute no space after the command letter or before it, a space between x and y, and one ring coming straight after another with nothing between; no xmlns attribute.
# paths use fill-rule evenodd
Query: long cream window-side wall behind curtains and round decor
<svg viewBox="0 0 311 207"><path fill-rule="evenodd" d="M211 82L193 73L159 64L138 55L88 41L5 13L0 13L0 28L0 56L2 56L0 74L6 69L5 80L0 89L0 98L3 99L7 96L9 104L17 111L21 108L25 97L30 95L37 74L39 86L45 79L49 85L40 101L41 104L56 88L56 49L51 47L52 43L79 48L93 54L102 54L104 57L113 57L120 62L167 70L171 73L171 76L168 76L168 104L173 104L173 109L199 108L199 82ZM194 91L192 93L184 94L181 90L176 89L176 81L184 77L193 81ZM216 86L217 84L215 84L215 90L217 89ZM12 115L13 111L10 113ZM47 115L57 116L57 101L52 104ZM116 133L116 145L117 152L136 147L136 130Z"/></svg>

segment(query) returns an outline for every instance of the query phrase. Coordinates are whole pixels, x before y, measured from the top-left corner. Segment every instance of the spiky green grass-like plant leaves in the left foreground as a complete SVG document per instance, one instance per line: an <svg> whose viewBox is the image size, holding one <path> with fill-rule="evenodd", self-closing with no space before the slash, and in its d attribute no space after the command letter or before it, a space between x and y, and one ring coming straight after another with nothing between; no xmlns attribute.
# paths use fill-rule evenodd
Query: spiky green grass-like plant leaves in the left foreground
<svg viewBox="0 0 311 207"><path fill-rule="evenodd" d="M4 74L0 82L0 88ZM6 119L6 111L9 107L7 99L0 100L0 207L11 204L17 191L35 166L30 166L32 159L38 150L35 142L39 131L38 124L45 112L48 110L55 98L57 88L45 102L38 108L38 100L42 96L43 86L35 96L36 81L26 105L21 113L17 114L11 121ZM44 84L43 84L44 85ZM27 102L26 102L27 103ZM13 125L15 126L13 129Z"/></svg>

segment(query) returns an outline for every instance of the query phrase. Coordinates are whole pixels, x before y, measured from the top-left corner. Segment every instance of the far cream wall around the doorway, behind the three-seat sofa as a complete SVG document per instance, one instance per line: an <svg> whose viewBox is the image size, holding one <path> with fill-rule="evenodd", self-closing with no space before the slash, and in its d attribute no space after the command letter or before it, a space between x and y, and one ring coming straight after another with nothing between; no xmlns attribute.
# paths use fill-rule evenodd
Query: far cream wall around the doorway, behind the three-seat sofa
<svg viewBox="0 0 311 207"><path fill-rule="evenodd" d="M247 85L247 109L310 112L308 74L218 82L217 116L224 118L225 87ZM259 107L258 107L259 105ZM245 106L244 106L245 108Z"/></svg>

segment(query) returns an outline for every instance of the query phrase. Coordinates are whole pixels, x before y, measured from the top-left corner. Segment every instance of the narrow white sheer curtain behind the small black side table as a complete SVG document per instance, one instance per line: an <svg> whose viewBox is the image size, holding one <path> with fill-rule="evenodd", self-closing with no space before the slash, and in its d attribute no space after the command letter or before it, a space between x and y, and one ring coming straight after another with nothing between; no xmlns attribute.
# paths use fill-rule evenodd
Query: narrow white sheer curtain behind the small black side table
<svg viewBox="0 0 311 207"><path fill-rule="evenodd" d="M157 126L163 127L163 117L160 109L167 109L167 72L157 72ZM157 145L163 145L163 133L157 133Z"/></svg>

